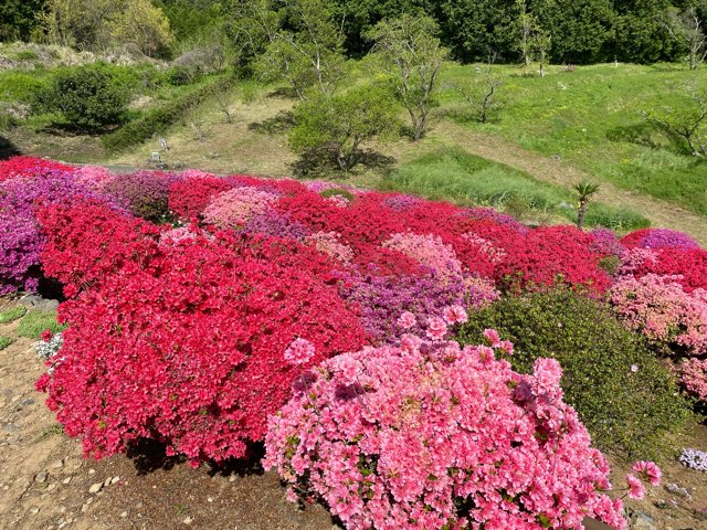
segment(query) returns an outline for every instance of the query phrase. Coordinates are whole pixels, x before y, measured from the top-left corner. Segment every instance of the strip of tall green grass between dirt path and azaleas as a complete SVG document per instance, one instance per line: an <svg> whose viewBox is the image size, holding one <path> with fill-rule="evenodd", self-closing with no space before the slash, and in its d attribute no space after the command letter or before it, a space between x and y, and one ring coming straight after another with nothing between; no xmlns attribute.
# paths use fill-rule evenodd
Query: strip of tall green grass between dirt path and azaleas
<svg viewBox="0 0 707 530"><path fill-rule="evenodd" d="M442 147L402 163L382 180L381 187L435 200L494 206L520 218L547 214L577 220L576 199L569 190L457 147ZM590 204L585 223L619 231L650 225L639 212L602 203Z"/></svg>

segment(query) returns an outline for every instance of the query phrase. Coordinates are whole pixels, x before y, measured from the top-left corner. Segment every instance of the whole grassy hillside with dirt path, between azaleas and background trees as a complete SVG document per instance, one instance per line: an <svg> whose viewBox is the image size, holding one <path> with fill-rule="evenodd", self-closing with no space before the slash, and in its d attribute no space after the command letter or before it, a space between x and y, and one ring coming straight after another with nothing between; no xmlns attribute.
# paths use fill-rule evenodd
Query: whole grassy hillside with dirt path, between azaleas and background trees
<svg viewBox="0 0 707 530"><path fill-rule="evenodd" d="M349 84L369 75L363 62L350 66ZM707 71L673 65L552 66L541 78L519 66L494 66L493 75L502 82L498 108L489 123L478 124L452 85L478 86L483 72L483 66L449 64L440 82L440 105L422 141L400 136L384 145L372 142L368 147L392 163L327 177L494 204L531 220L573 219L571 184L594 180L602 191L589 224L633 229L646 224L647 218L697 237L707 234L707 162L646 127L642 116L656 102L679 108L685 104L683 87L707 81ZM18 75L42 83L48 74L0 74L0 94L22 97ZM136 99L131 120L198 88L163 82L165 73L157 78L160 82L149 84ZM287 146L284 117L295 100L281 88L240 82L225 100L202 100L189 116L155 131L168 139L165 160L222 173L292 176L296 156ZM223 113L224 103L233 119ZM57 137L42 130L45 120L31 117L4 136L34 155L138 167L159 149L155 136L109 153L95 137Z"/></svg>

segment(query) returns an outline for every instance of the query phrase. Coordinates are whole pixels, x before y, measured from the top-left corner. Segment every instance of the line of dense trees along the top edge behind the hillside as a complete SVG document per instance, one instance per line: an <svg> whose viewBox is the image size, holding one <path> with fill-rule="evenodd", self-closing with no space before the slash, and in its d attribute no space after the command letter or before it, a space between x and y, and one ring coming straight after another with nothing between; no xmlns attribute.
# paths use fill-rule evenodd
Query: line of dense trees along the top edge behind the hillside
<svg viewBox="0 0 707 530"><path fill-rule="evenodd" d="M131 42L148 55L178 55L197 43L236 35L234 26L258 0L4 0L0 40L46 40L78 49ZM258 21L239 59L264 47L267 24L297 26L292 2L274 0L275 18ZM559 64L678 61L690 53L707 14L705 0L327 0L347 57L366 55L367 34L378 22L402 14L429 15L440 40L461 62L524 60L525 33L549 36L547 60ZM247 13L245 13L247 14ZM265 25L263 25L265 24ZM695 28L697 25L697 28ZM264 33L255 34L256 31ZM688 33L686 35L686 33ZM272 36L272 33L271 33ZM134 42L139 41L139 42Z"/></svg>

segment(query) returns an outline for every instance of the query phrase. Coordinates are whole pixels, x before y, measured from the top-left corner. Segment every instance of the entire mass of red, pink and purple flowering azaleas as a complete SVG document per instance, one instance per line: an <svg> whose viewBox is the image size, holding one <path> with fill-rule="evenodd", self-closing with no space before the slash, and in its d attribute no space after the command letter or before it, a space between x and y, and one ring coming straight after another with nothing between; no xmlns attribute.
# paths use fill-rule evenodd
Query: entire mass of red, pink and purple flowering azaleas
<svg viewBox="0 0 707 530"><path fill-rule="evenodd" d="M622 528L559 363L520 375L497 359L510 342L488 331L462 348L451 327L559 284L609 293L657 333L654 305L629 293L657 277L675 318L661 314L656 340L692 356L678 367L701 392L707 259L674 233L529 230L488 209L199 171L22 159L0 174L2 285L42 272L64 286L67 328L38 388L87 455L152 438L198 464L266 438L267 465L348 528L579 528L588 513ZM640 498L659 474L634 470Z"/></svg>

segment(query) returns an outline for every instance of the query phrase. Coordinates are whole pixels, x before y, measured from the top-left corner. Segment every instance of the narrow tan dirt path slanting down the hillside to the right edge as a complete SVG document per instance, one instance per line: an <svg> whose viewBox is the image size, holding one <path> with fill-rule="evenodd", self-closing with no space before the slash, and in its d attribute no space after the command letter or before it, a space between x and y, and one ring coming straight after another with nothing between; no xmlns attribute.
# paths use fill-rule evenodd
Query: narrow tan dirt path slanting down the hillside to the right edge
<svg viewBox="0 0 707 530"><path fill-rule="evenodd" d="M569 188L574 182L592 180L591 174L561 160L548 158L497 136L469 130L452 121L441 121L435 126L439 136L454 138L454 144L473 155L523 170L538 180ZM707 218L687 211L678 205L654 199L643 193L622 190L602 182L597 200L615 206L631 208L651 220L654 226L665 226L687 232L703 245L707 245Z"/></svg>

